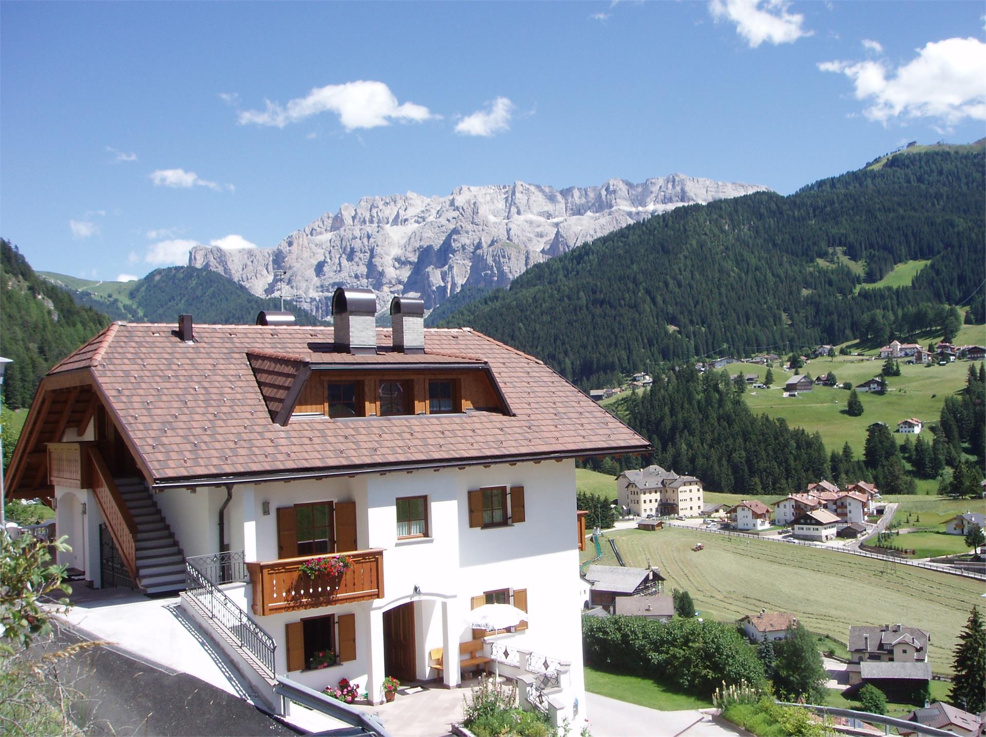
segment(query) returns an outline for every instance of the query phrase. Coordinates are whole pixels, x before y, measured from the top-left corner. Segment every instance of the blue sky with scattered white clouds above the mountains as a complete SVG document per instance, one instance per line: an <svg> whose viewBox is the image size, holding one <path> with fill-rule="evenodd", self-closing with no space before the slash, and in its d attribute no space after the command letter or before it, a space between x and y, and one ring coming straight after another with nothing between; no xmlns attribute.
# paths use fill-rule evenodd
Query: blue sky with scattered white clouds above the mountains
<svg viewBox="0 0 986 737"><path fill-rule="evenodd" d="M980 2L0 3L0 235L142 276L361 196L789 193L986 135Z"/></svg>

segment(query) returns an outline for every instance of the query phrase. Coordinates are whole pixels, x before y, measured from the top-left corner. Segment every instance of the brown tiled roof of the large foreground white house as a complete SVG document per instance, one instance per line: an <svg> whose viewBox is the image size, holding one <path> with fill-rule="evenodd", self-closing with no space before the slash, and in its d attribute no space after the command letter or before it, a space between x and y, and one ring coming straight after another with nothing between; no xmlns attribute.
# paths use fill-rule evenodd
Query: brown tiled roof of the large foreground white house
<svg viewBox="0 0 986 737"><path fill-rule="evenodd" d="M331 328L114 324L52 373L91 367L102 394L157 482L344 473L646 451L647 441L543 362L468 329L426 330L426 353L351 356L315 350ZM377 331L389 346L389 330ZM488 364L513 416L495 412L271 420L247 359L266 375L286 363ZM283 389L278 390L283 392ZM282 398L283 399L283 398ZM276 405L276 400L273 405Z"/></svg>

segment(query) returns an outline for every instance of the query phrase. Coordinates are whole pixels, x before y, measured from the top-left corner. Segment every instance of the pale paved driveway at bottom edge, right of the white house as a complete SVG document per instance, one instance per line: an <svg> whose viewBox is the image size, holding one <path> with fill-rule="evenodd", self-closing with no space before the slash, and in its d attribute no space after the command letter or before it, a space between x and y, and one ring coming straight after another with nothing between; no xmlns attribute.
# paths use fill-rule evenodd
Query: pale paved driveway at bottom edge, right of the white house
<svg viewBox="0 0 986 737"><path fill-rule="evenodd" d="M598 694L586 694L586 701L589 703L593 737L722 737L748 734L705 711L658 711ZM578 724L575 727L573 732L582 728Z"/></svg>

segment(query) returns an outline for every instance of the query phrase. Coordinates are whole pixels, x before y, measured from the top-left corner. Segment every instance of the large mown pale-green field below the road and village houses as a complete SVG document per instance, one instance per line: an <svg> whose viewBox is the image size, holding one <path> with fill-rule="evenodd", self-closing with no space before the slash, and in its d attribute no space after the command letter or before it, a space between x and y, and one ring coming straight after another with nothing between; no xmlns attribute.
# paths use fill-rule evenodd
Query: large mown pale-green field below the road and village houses
<svg viewBox="0 0 986 737"><path fill-rule="evenodd" d="M668 528L611 533L627 565L659 567L666 592L687 590L695 608L721 622L766 609L790 612L838 641L850 625L899 622L932 632L932 668L951 673L952 648L982 582L846 553ZM703 543L705 550L691 548ZM603 565L616 565L604 545ZM583 553L583 559L595 556Z"/></svg>

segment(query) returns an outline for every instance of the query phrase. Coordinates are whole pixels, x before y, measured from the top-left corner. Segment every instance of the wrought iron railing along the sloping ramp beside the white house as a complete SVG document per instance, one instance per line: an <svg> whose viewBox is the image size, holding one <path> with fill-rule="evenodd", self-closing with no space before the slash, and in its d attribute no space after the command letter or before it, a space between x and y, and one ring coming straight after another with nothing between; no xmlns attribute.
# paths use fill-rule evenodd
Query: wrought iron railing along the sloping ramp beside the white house
<svg viewBox="0 0 986 737"><path fill-rule="evenodd" d="M267 669L269 677L274 676L274 638L263 629L263 627L253 622L246 612L237 606L226 593L219 588L219 585L209 579L210 571L213 575L222 577L224 570L235 570L236 564L233 560L224 562L223 555L231 553L218 553L218 555L199 555L187 558L185 561L185 592L195 597L196 601L206 611L212 620L232 634L240 646L243 647L253 658ZM240 555L240 565L243 565L243 552ZM216 562L208 563L202 558L216 557ZM228 568L224 568L228 566Z"/></svg>

